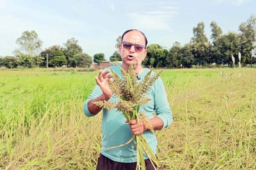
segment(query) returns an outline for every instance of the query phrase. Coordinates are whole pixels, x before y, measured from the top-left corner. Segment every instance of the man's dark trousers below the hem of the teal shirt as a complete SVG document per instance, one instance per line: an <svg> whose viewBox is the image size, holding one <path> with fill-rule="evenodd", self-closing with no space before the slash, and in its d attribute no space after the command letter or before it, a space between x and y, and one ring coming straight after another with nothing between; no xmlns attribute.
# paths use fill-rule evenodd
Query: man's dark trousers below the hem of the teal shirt
<svg viewBox="0 0 256 170"><path fill-rule="evenodd" d="M136 170L137 162L122 163L112 161L106 156L100 154L96 170ZM146 170L154 170L149 159L145 159ZM155 167L157 167L155 165Z"/></svg>

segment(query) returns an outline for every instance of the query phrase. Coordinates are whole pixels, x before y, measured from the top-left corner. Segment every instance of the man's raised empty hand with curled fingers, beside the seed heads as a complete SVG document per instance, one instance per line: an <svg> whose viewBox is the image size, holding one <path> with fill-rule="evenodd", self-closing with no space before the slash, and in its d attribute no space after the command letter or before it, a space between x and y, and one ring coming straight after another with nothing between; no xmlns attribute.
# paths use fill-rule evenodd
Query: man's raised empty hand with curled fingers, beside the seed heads
<svg viewBox="0 0 256 170"><path fill-rule="evenodd" d="M111 91L108 82L112 78L112 75L107 75L110 73L110 70L105 71L102 73L102 70L99 71L99 76L95 77L97 85L99 85L99 88L101 88L102 93L107 99L110 99L113 95L113 91Z"/></svg>

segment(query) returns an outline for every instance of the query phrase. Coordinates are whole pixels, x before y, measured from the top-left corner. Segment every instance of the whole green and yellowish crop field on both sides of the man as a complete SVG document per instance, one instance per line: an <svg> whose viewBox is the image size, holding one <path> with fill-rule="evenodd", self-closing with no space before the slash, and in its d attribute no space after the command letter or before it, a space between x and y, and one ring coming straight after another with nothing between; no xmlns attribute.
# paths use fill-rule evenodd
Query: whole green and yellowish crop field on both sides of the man
<svg viewBox="0 0 256 170"><path fill-rule="evenodd" d="M102 116L82 108L97 74L0 70L0 169L96 169ZM174 121L156 132L160 170L256 169L255 68L164 70L161 78Z"/></svg>

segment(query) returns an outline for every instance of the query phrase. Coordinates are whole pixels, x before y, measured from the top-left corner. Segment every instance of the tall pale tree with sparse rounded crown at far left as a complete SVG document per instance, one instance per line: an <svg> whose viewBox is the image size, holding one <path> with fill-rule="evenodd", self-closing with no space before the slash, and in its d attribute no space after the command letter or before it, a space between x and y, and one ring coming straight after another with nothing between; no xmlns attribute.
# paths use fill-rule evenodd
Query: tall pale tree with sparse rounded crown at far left
<svg viewBox="0 0 256 170"><path fill-rule="evenodd" d="M38 34L32 31L24 31L16 40L16 44L20 46L20 53L30 56L38 55L41 51L42 41L38 38ZM17 53L17 51L16 51Z"/></svg>

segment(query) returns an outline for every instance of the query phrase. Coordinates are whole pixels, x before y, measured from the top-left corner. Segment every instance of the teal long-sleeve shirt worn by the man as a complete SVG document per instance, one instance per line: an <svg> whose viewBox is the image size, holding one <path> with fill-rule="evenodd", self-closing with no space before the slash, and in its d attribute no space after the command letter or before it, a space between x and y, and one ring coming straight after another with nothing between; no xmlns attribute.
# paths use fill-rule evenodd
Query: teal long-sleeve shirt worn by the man
<svg viewBox="0 0 256 170"><path fill-rule="evenodd" d="M116 72L121 77L120 71L121 65L111 66L113 71ZM109 68L105 68L106 71ZM145 75L150 70L148 68L144 68L143 72L140 74L141 79L137 80L138 82L142 81ZM152 71L153 72L153 71ZM153 73L152 73L153 74ZM84 102L84 113L86 116L95 116L95 114L90 113L88 110L88 101L90 99L94 99L102 94L102 90L98 85L95 86L93 92L90 94L88 99ZM154 84L152 85L150 91L147 92L147 97L151 98L145 105L140 106L140 111L144 112L148 119L154 117L154 111L156 111L157 117L163 120L163 128L168 127L172 123L172 111L169 108L169 103L166 97L166 91L163 85L162 79L159 77ZM109 99L112 102L117 102L118 99L113 96ZM133 142L126 144L122 147L113 148L110 150L104 150L104 148L118 146L120 144L124 144L128 142L133 134L131 133L131 129L128 123L125 123L125 117L121 112L116 109L107 110L103 109L102 116L102 151L101 153L108 157L109 159L117 162L136 162L137 161L137 153L136 147ZM157 139L156 136L151 133L150 130L146 130L143 132L143 136L147 140L149 146L156 154L157 152ZM144 159L147 159L147 156L144 156Z"/></svg>

